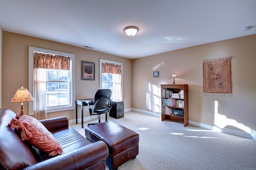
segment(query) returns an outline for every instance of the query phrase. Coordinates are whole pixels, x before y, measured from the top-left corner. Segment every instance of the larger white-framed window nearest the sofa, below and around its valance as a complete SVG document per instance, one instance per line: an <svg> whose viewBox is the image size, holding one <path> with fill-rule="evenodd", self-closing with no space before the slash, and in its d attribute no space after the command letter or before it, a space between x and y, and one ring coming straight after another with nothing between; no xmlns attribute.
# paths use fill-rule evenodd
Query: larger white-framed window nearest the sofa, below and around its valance
<svg viewBox="0 0 256 170"><path fill-rule="evenodd" d="M59 55L61 57L70 57L70 69L34 69L34 54L45 54L56 56ZM30 94L34 97L38 91L43 94L43 97L40 99L44 99L46 102L47 112L54 111L63 111L74 109L74 100L75 100L75 86L74 86L74 64L75 64L75 55L70 53L64 53L60 51L52 51L48 49L41 49L36 47L29 47L29 91ZM62 65L63 63L61 63ZM39 74L40 73L40 74ZM35 75L40 75L36 77ZM43 75L43 76L42 76ZM44 76L45 75L45 76ZM38 88L35 86L35 82L43 82L43 87ZM39 89L39 90L38 90ZM37 91L38 90L38 91ZM35 101L29 103L29 114L33 115L34 110L37 105L41 105L36 103ZM44 102L44 101L42 101ZM38 107L38 106L37 106Z"/></svg>

